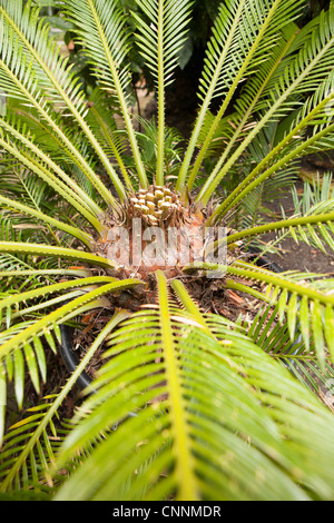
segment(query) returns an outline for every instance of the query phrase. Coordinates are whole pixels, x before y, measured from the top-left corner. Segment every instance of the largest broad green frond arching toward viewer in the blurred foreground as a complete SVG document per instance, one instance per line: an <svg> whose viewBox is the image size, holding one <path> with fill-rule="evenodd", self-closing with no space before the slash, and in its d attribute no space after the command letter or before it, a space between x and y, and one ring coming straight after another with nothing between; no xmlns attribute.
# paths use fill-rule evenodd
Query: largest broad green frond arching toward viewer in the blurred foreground
<svg viewBox="0 0 334 523"><path fill-rule="evenodd" d="M264 356L244 335L223 327L218 317L210 319L215 334L207 334L191 323L193 315L188 325L166 315L161 318L168 306L166 290L160 298L160 310L136 313L111 335L106 357L112 359L94 384L96 394L77 415L73 432L60 450L58 466L82 453L98 434L104 433L105 440L92 451L90 447L56 499L180 500L186 471L178 468L181 457L174 402L186 409L186 426L179 425L178 431L191 450L189 480L198 499L306 500L306 477L317 495L328 496L331 483L321 480L328 470L321 465L327 463L327 456L320 445L320 427L330 420L333 425L326 408L279 363ZM185 317L185 313L179 314ZM176 382L165 361L168 351L174 354ZM246 362L245 354L249 355ZM301 403L295 402L296 397ZM308 423L314 428L311 438L310 433L305 435ZM325 446L330 451L330 437ZM112 456L107 463L106 454ZM298 473L296 454L303 456ZM332 460L332 451L330 456Z"/></svg>

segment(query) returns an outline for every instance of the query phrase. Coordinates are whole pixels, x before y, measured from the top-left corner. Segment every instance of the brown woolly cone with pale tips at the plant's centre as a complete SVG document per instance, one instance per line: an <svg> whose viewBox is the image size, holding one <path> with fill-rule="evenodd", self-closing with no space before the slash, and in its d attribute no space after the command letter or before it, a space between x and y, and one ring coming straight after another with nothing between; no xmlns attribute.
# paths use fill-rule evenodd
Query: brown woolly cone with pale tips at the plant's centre
<svg viewBox="0 0 334 523"><path fill-rule="evenodd" d="M190 239L191 246L194 244L194 251L189 253L189 262L193 262L194 253L203 246L204 223L202 211L183 204L171 188L153 185L130 195L118 216L110 213L109 218L106 217L108 234L98 243L97 250L116 262L118 268L122 267L125 276L135 273L136 277L146 279L155 269L163 268L168 277L175 277L184 265L183 240L187 244ZM176 243L170 239L173 230L177 235ZM151 250L147 248L149 245ZM139 255L138 248L141 249Z"/></svg>

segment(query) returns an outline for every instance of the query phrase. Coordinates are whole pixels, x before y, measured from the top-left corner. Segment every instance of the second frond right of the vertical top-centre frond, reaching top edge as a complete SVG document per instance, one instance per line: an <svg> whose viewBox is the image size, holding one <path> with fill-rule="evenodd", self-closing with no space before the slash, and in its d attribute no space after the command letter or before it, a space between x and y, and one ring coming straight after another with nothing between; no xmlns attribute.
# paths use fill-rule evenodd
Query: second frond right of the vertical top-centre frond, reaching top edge
<svg viewBox="0 0 334 523"><path fill-rule="evenodd" d="M247 0L242 2L230 0L220 6L213 37L207 46L207 58L200 79L203 105L177 180L178 190L184 189L197 137L212 99L223 96L222 106L209 132L210 138L238 85L246 80L254 69L261 68L263 61L271 58L271 49L279 38L279 30L299 14L301 4L302 2L282 0L268 0L255 4ZM204 152L208 144L209 138L203 146ZM190 187L202 159L203 156L199 157L189 180Z"/></svg>

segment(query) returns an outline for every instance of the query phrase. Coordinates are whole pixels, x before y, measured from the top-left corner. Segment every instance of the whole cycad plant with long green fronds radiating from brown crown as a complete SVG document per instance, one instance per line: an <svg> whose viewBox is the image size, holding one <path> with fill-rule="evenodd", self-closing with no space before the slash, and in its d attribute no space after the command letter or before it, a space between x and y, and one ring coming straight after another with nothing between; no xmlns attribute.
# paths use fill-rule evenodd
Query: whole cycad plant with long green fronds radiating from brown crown
<svg viewBox="0 0 334 523"><path fill-rule="evenodd" d="M165 99L191 1L136 0L135 12L120 0L50 2L91 89L50 37L46 3L0 0L2 495L333 500L333 279L273 272L249 247L267 231L334 247L330 177L295 198L294 216L258 213L302 156L333 147L334 2L298 28L304 0L222 1L184 149ZM134 48L157 98L140 132ZM180 229L206 256L157 253L154 238L161 247ZM8 385L27 408L24 379L40 394L66 326L75 345L91 325L68 381L8 428Z"/></svg>

